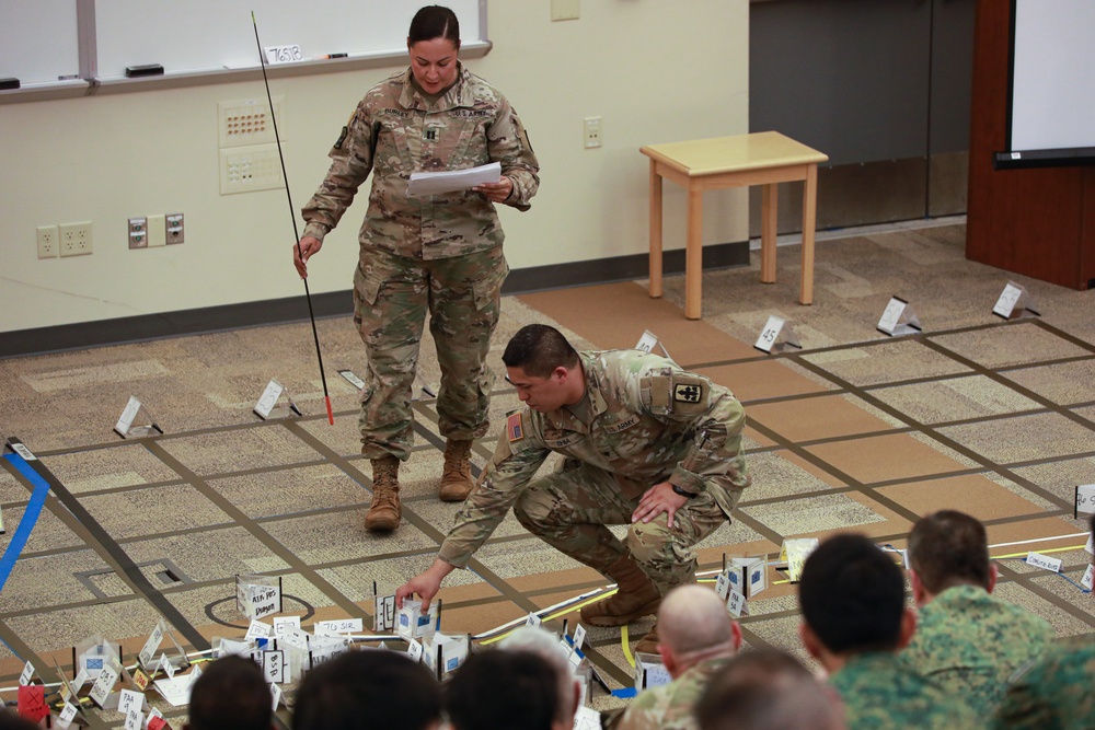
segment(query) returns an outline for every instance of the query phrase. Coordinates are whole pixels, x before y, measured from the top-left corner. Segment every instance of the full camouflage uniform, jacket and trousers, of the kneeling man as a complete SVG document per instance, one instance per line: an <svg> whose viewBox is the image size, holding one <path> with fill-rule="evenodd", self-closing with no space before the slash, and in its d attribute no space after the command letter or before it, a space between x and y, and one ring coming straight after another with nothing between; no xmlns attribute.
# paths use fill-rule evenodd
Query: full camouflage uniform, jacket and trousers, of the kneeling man
<svg viewBox="0 0 1095 730"><path fill-rule="evenodd" d="M579 354L588 422L569 409L515 412L482 484L457 513L439 557L458 568L510 506L529 532L604 572L631 552L662 594L690 582L692 545L728 519L748 486L745 412L734 395L671 360L638 350ZM531 480L552 452L562 471ZM670 482L696 497L677 512L631 523L650 487ZM621 542L607 524L627 524Z"/></svg>

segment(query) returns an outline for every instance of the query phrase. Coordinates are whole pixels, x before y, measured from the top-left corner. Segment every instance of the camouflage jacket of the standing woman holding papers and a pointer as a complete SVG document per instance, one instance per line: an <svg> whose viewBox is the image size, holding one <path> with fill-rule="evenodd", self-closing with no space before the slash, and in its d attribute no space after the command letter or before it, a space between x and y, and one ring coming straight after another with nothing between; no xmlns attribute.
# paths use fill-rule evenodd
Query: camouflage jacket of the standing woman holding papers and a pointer
<svg viewBox="0 0 1095 730"><path fill-rule="evenodd" d="M323 240L372 172L362 246L416 259L449 258L500 246L494 204L458 190L407 197L413 172L502 164L514 183L506 201L520 210L540 185L528 135L509 102L462 65L458 81L433 106L411 82L411 70L373 86L357 105L331 150L331 169L301 211L304 235Z"/></svg>

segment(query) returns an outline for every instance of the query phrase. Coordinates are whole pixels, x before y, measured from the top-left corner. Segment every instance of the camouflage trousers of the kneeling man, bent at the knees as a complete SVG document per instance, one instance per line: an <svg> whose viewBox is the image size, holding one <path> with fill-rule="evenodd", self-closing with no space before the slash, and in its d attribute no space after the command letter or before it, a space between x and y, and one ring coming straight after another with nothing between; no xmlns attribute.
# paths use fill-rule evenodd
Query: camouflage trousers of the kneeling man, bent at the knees
<svg viewBox="0 0 1095 730"><path fill-rule="evenodd" d="M602 573L631 553L665 595L670 588L695 581L692 546L728 515L704 491L677 512L672 529L665 512L649 522L632 524L631 515L639 498L653 486L636 485L580 462L567 462L563 471L531 482L514 505L514 513L526 530ZM612 534L606 526L609 524L629 525L623 541Z"/></svg>

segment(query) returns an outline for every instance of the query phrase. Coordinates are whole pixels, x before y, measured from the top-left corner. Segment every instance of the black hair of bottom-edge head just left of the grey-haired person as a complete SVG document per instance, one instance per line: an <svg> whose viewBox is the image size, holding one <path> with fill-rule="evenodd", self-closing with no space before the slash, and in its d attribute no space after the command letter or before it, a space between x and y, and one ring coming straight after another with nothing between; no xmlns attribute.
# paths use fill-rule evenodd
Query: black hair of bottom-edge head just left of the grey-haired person
<svg viewBox="0 0 1095 730"><path fill-rule="evenodd" d="M488 649L470 656L445 686L456 730L551 730L558 682L531 651Z"/></svg>

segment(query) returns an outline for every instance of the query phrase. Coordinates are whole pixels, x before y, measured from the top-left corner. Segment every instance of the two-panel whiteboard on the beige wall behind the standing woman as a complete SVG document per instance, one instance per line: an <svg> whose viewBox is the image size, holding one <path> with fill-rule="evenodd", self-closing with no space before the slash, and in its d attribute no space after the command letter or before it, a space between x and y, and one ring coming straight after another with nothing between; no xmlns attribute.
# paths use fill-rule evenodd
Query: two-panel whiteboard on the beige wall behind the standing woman
<svg viewBox="0 0 1095 730"><path fill-rule="evenodd" d="M77 4L92 5L84 38L94 78L124 78L126 67L159 63L164 73L254 69L263 47L298 45L306 59L406 54L411 19L423 0L0 0L0 78L57 82L79 71ZM486 0L446 0L461 40L486 40Z"/></svg>

